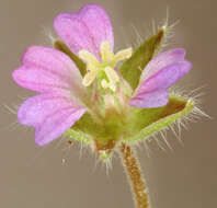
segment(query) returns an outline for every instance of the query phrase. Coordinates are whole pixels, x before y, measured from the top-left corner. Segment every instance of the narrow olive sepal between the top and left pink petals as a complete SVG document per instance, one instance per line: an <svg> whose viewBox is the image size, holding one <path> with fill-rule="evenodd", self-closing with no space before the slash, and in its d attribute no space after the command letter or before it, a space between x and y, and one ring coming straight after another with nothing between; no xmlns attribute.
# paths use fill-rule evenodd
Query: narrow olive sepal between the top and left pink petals
<svg viewBox="0 0 217 208"><path fill-rule="evenodd" d="M54 47L60 51L62 51L64 54L66 54L67 56L69 56L71 58L71 60L76 63L76 66L78 67L78 69L81 72L81 76L83 77L87 72L87 66L85 63L77 56L75 55L68 47L66 44L64 44L61 41L57 39L54 43Z"/></svg>

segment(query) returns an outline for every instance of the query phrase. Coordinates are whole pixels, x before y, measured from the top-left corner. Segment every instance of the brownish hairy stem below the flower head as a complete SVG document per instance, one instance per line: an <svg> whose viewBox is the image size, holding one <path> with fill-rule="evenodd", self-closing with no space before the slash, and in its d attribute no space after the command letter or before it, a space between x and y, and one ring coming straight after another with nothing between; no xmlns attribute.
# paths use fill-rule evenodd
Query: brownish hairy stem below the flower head
<svg viewBox="0 0 217 208"><path fill-rule="evenodd" d="M130 181L133 196L137 208L150 208L149 197L146 192L145 180L139 166L139 162L130 146L122 143L119 148L123 166Z"/></svg>

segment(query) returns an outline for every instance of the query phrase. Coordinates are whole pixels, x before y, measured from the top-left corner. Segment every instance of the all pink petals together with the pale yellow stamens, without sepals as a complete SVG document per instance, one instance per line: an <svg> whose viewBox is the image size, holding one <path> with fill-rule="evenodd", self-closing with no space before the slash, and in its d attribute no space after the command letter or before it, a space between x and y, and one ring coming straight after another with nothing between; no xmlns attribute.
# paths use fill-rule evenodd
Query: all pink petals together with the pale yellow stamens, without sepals
<svg viewBox="0 0 217 208"><path fill-rule="evenodd" d="M113 54L112 25L99 5L85 5L73 14L61 13L55 19L54 26L70 50L85 61L88 72L82 78L72 60L54 48L33 46L24 53L22 66L13 71L12 77L19 85L41 94L21 105L18 119L23 125L35 127L35 141L39 146L56 139L85 112L93 111L88 105L90 91L87 90L95 90L93 83L100 83L98 93L103 92L105 105L107 97L112 103L111 97L119 95L118 89L124 82L115 66L132 55L132 48ZM124 105L165 105L168 88L191 69L184 55L184 49L172 49L153 58Z"/></svg>

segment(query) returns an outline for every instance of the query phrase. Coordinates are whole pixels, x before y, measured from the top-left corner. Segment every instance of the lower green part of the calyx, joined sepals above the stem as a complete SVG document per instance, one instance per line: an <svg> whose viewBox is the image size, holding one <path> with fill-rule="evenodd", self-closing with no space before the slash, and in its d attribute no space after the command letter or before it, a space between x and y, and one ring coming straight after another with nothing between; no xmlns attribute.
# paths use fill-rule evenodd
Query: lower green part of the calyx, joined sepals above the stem
<svg viewBox="0 0 217 208"><path fill-rule="evenodd" d="M93 143L95 151L103 159L108 158L111 150L121 142L137 142L148 138L175 120L181 119L194 107L194 101L171 95L165 106L157 108L132 107L127 116L111 112L102 123L95 123L87 113L66 135L70 138Z"/></svg>

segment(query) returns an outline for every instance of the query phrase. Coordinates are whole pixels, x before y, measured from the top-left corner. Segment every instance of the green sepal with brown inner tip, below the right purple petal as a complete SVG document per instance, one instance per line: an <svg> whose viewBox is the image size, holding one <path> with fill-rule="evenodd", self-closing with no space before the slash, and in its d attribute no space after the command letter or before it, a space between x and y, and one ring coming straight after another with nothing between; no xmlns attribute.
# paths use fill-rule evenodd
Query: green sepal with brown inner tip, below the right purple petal
<svg viewBox="0 0 217 208"><path fill-rule="evenodd" d="M147 139L148 136L167 128L175 120L184 117L194 107L193 100L170 96L168 105L158 108L134 108L128 136L123 140L136 142Z"/></svg>

